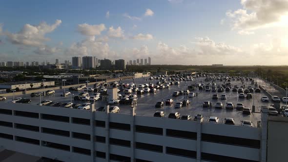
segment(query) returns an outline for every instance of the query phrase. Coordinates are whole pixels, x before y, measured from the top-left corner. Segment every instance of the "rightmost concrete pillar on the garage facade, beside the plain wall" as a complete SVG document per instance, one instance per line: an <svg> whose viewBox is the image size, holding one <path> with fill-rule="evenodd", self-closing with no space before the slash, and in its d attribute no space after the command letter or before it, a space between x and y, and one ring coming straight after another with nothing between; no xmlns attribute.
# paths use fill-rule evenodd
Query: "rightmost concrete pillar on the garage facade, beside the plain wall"
<svg viewBox="0 0 288 162"><path fill-rule="evenodd" d="M266 162L267 157L267 128L268 128L268 108L261 108L261 146L260 146L260 162Z"/></svg>

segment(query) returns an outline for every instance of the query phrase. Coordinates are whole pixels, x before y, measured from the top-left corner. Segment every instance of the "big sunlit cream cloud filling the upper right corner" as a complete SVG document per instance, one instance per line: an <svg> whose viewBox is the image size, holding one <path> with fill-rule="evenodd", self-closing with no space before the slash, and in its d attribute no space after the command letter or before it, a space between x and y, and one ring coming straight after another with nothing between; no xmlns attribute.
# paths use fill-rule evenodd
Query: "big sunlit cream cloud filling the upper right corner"
<svg viewBox="0 0 288 162"><path fill-rule="evenodd" d="M233 30L288 25L288 0L241 0L242 9L228 10Z"/></svg>

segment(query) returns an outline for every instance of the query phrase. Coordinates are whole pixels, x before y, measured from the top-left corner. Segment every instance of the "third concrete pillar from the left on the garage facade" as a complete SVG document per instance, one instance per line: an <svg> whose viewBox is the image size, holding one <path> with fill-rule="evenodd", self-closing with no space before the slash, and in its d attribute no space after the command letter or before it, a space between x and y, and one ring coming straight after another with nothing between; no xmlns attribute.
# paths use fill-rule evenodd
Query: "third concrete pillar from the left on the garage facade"
<svg viewBox="0 0 288 162"><path fill-rule="evenodd" d="M135 145L135 107L131 107L130 109L130 133L131 133L131 144L130 144L130 151L131 151L131 162L136 162L135 159L135 149L136 149L136 145Z"/></svg>

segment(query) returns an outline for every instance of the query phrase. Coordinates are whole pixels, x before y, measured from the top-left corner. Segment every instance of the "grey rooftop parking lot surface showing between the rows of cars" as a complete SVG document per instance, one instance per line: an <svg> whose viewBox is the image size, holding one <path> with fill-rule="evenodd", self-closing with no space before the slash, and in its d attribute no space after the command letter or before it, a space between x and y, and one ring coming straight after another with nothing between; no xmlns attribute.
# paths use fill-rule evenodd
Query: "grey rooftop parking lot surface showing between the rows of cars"
<svg viewBox="0 0 288 162"><path fill-rule="evenodd" d="M242 120L249 120L252 121L254 125L257 125L257 121L261 121L261 113L260 109L261 106L269 106L272 104L271 102L262 102L260 101L261 96L266 96L263 92L261 93L253 93L253 98L252 99L239 99L238 98L238 93L237 92L211 92L208 91L206 92L205 90L193 90L194 93L198 93L198 96L195 96L193 98L188 98L187 95L180 95L179 97L172 97L172 93L174 91L179 91L179 90L186 90L187 86L192 84L192 83L208 83L204 81L205 78L196 78L193 79L193 81L180 81L180 85L171 85L168 89L157 89L157 92L155 94L153 93L144 93L144 95L140 96L138 95L138 101L136 105L136 114L137 115L144 115L144 116L153 116L155 111L161 110L165 112L165 117L168 116L170 112L177 111L181 115L190 115L194 117L197 114L202 114L204 116L204 121L207 121L209 117L218 117L220 119L219 122L223 122L225 118L233 118L235 120L235 124L240 124ZM154 83L159 80L148 80L148 78L140 78L140 79L134 79L134 80L124 80L122 81L123 83L130 83L134 82L137 86L139 84L144 84L144 83ZM209 81L211 82L211 81ZM222 84L223 81L216 81L217 84ZM250 82L244 82L246 86L251 85L249 84ZM232 87L234 85L242 85L242 81L231 81ZM66 89L67 91L68 89ZM86 101L74 101L73 97L81 93L82 91L73 91L72 96L66 96L66 97L61 97L60 95L62 94L64 90L56 90L54 95L50 96L42 96L41 100L51 100L54 102L70 102L70 97L72 97L72 102L73 103L84 103ZM123 91L119 92L120 94L124 95ZM217 93L218 96L220 97L221 94L226 94L227 99L226 100L212 100L212 95ZM93 92L89 92L89 94L92 96ZM133 94L136 94L133 92ZM31 98L30 95L21 95L21 96L15 96L15 97L22 97L22 98ZM11 101L13 97L9 97L7 101ZM40 97L34 97L31 98L32 101L30 104L38 104L40 102ZM165 101L166 99L173 99L174 103L171 106L165 105L162 108L155 108L155 104L157 101ZM187 107L182 107L180 109L175 109L174 105L177 101L183 101L185 99L188 99L191 101L190 105ZM210 101L212 103L212 108L203 108L203 101ZM226 110L226 108L223 109L215 109L214 105L217 101L221 101L224 104L224 107L226 105L226 102L233 102L234 105L237 104L237 102L242 102L245 107L248 107L252 109L252 105L255 105L255 113L251 113L251 115L244 115L242 114L242 111L238 111L236 109L233 110ZM105 105L106 101L96 101L95 106L96 108ZM281 103L282 104L282 103ZM123 105L123 104L115 104L120 107L120 113L128 114L130 113L131 105ZM53 108L53 107L51 107Z"/></svg>

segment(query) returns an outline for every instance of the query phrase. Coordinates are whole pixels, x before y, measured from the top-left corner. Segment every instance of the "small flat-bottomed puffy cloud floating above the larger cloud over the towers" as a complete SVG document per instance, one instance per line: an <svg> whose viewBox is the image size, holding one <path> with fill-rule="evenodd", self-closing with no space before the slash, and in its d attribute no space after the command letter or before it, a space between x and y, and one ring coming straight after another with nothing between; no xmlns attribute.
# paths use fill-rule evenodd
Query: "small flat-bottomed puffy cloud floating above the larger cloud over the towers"
<svg viewBox="0 0 288 162"><path fill-rule="evenodd" d="M98 36L104 30L106 30L106 27L103 23L99 25L78 24L78 32L85 36Z"/></svg>

